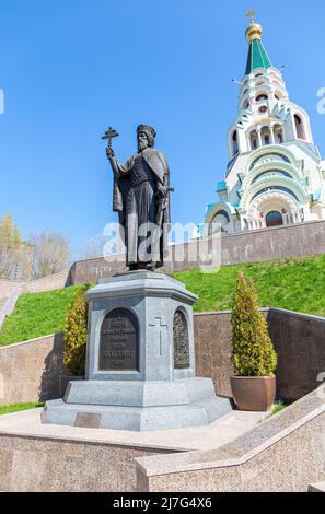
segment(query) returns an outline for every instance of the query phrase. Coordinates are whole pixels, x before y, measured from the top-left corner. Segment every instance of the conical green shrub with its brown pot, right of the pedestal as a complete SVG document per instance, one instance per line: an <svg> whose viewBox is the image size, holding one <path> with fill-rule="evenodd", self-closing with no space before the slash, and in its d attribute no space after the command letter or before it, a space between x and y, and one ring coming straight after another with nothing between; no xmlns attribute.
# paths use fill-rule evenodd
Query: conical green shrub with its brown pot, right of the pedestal
<svg viewBox="0 0 325 514"><path fill-rule="evenodd" d="M231 316L233 399L240 410L267 411L275 401L277 354L253 282L240 272Z"/></svg>

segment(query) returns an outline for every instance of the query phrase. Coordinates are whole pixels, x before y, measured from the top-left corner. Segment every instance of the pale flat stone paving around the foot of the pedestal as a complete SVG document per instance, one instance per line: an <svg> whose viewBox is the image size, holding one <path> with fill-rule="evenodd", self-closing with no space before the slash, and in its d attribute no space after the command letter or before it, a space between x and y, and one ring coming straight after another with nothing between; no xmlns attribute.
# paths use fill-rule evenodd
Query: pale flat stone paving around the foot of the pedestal
<svg viewBox="0 0 325 514"><path fill-rule="evenodd" d="M212 449L234 441L263 421L265 412L232 411L209 427L129 432L107 429L83 429L42 424L42 409L0 416L0 436L11 434L83 442L101 442L126 446L142 446L174 451Z"/></svg>

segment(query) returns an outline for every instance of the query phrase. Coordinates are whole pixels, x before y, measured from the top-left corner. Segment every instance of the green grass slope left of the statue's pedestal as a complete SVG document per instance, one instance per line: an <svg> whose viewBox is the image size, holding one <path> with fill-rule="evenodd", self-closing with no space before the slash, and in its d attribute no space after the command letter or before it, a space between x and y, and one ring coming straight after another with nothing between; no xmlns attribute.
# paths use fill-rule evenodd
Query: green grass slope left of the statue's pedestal
<svg viewBox="0 0 325 514"><path fill-rule="evenodd" d="M63 330L68 305L80 288L74 285L21 295L13 313L5 318L0 328L0 346L27 341Z"/></svg>

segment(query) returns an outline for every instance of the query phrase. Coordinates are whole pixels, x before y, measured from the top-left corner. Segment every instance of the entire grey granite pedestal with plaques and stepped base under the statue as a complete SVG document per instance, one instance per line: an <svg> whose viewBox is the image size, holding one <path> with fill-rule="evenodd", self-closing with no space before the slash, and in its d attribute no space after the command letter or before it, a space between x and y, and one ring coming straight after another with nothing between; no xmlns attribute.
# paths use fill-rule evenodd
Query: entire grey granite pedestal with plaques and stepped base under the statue
<svg viewBox="0 0 325 514"><path fill-rule="evenodd" d="M206 425L232 410L195 376L197 296L159 272L104 279L86 295L86 376L47 401L44 423L120 430Z"/></svg>

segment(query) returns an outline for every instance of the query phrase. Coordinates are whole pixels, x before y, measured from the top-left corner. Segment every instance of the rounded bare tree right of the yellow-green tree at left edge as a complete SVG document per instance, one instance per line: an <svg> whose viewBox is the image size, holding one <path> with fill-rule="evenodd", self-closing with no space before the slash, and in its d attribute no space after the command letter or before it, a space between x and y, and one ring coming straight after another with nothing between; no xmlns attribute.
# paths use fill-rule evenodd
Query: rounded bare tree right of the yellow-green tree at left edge
<svg viewBox="0 0 325 514"><path fill-rule="evenodd" d="M28 244L33 246L32 279L59 273L69 266L71 246L62 234L57 232L32 234Z"/></svg>

